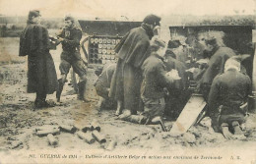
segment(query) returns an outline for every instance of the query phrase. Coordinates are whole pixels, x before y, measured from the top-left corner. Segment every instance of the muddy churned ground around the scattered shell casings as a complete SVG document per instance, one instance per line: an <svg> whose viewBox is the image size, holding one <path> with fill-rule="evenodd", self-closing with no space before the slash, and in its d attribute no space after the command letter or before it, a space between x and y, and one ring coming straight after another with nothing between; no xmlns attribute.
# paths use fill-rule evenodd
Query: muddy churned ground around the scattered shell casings
<svg viewBox="0 0 256 164"><path fill-rule="evenodd" d="M27 93L27 57L19 57L18 38L0 38L0 163L16 163L17 155L22 159L37 163L40 152L84 152L96 150L98 154L105 153L105 147L115 140L117 142L112 152L176 152L185 154L184 149L202 150L207 148L231 150L245 149L255 154L256 149L256 115L247 118L243 140L225 140L221 134L216 134L210 127L211 121L205 118L200 125L190 128L181 137L170 137L163 133L159 125L136 125L118 120L114 110L96 110L96 102L81 102L72 94L73 88L66 84L62 102L54 107L33 110L34 94ZM60 49L51 52L56 71L58 72ZM47 96L50 102L56 102L55 94ZM54 147L48 144L47 137L35 135L35 128L45 125L79 125L85 126L93 120L101 126L101 132L106 142L89 144L77 134L61 132L56 135L59 143ZM166 121L167 129L173 122ZM136 151L135 151L136 150ZM204 150L202 150L204 152ZM30 153L29 153L30 152ZM32 160L29 154L37 152ZM39 152L39 153L38 153ZM107 151L109 152L109 151ZM110 152L109 152L110 153ZM220 151L220 153L222 153ZM173 154L173 153L172 153ZM214 154L214 153L212 153ZM256 154L255 154L256 156ZM2 161L1 161L2 159ZM38 159L39 160L39 159ZM40 159L42 160L42 159ZM47 163L47 162L46 162Z"/></svg>

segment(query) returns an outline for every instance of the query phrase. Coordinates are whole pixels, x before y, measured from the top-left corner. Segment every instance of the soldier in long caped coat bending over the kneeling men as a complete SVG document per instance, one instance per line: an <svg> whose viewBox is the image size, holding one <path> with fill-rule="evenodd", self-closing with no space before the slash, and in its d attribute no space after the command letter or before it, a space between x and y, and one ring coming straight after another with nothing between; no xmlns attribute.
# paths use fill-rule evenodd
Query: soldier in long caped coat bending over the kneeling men
<svg viewBox="0 0 256 164"><path fill-rule="evenodd" d="M159 27L160 17L149 15L141 27L131 29L116 46L118 62L109 95L117 100L119 114L122 113L122 107L132 114L137 114L138 108L142 107L141 66L150 55L150 40L154 36L154 30L157 31Z"/></svg>

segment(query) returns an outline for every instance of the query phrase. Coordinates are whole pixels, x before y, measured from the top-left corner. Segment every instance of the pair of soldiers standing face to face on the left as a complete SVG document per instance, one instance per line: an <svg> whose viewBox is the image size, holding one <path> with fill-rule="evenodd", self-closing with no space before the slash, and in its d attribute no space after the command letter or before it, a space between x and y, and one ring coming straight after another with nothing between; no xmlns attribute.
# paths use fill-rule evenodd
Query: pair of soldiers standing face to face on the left
<svg viewBox="0 0 256 164"><path fill-rule="evenodd" d="M61 92L64 83L67 82L67 75L71 67L80 77L78 99L85 100L87 67L80 54L82 30L75 26L73 17L66 16L65 27L53 37L49 36L47 29L40 25L40 20L39 11L31 11L27 27L20 37L19 56L28 55L28 92L36 93L34 107L51 106L45 99L47 94L52 94L54 91L56 91L57 101L60 101ZM57 80L54 62L49 50L55 49L60 43L62 44L59 65L61 77Z"/></svg>

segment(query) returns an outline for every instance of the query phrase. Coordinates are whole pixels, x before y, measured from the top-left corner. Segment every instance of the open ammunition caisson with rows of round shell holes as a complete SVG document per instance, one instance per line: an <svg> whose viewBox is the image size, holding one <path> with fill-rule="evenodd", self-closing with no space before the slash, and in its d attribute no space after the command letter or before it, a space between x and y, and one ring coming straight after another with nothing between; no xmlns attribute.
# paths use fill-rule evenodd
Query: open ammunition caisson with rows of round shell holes
<svg viewBox="0 0 256 164"><path fill-rule="evenodd" d="M83 31L81 51L84 61L88 63L88 82L85 90L85 98L98 100L94 84L97 80L95 72L103 68L105 64L116 63L115 45L121 38L134 27L140 27L142 22L128 21L78 21ZM77 78L74 73L71 76L74 88L77 88Z"/></svg>

